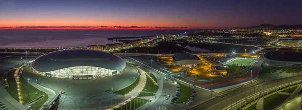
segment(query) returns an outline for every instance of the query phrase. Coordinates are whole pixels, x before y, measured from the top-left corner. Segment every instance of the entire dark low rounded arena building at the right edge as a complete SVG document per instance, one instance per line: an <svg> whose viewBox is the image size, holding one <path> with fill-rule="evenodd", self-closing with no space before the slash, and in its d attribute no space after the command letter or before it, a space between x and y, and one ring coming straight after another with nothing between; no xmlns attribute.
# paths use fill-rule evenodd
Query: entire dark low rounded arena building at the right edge
<svg viewBox="0 0 302 110"><path fill-rule="evenodd" d="M302 53L270 51L264 54L267 66L271 67L300 67L302 66Z"/></svg>

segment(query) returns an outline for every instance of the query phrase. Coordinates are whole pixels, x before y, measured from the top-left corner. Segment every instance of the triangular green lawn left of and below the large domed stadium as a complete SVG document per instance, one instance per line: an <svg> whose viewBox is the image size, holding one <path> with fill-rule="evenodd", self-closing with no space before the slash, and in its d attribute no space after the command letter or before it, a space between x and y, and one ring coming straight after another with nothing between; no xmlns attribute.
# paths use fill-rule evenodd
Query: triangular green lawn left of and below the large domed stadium
<svg viewBox="0 0 302 110"><path fill-rule="evenodd" d="M37 97L39 97L41 95L45 95L45 96L47 95L45 92L37 89L36 87L32 86L31 84L28 84L27 80L25 80L23 77L20 77L19 85L20 85L22 104L27 104L28 102L36 99ZM29 96L28 96L28 87L29 87L29 91L30 91Z"/></svg>

